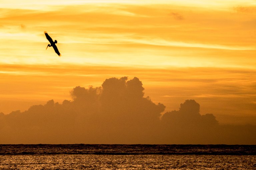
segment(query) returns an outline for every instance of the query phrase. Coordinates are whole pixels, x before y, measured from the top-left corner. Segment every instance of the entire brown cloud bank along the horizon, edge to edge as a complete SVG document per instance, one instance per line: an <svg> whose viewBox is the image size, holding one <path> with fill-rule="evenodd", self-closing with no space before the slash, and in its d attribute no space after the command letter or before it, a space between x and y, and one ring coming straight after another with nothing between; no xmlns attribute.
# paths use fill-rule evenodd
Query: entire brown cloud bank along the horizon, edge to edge
<svg viewBox="0 0 256 170"><path fill-rule="evenodd" d="M110 78L102 87L75 87L72 101L0 113L0 143L256 144L256 126L219 125L194 100L159 119L165 106L143 90L136 77Z"/></svg>

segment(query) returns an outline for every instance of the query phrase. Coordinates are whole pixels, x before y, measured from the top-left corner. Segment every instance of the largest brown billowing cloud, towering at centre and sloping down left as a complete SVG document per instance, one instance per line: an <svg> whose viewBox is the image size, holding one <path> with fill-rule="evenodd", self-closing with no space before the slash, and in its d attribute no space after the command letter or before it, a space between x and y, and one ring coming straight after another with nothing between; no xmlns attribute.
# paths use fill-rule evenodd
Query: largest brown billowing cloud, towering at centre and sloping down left
<svg viewBox="0 0 256 170"><path fill-rule="evenodd" d="M0 116L0 143L147 143L165 106L143 97L143 90L136 77L77 86L72 101L50 100Z"/></svg>

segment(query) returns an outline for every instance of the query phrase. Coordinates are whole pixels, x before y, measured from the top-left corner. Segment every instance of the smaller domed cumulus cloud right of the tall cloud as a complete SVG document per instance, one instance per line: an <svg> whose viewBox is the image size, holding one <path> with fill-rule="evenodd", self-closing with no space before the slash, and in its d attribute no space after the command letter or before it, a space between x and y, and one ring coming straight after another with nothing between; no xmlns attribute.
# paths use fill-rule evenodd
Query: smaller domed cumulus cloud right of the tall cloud
<svg viewBox="0 0 256 170"><path fill-rule="evenodd" d="M200 105L195 100L186 100L178 111L166 112L161 121L162 140L173 143L212 143L218 127L214 115L200 115Z"/></svg>

